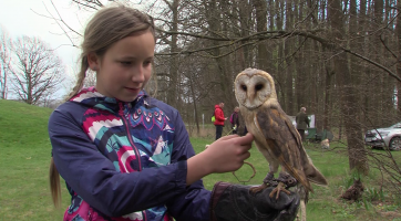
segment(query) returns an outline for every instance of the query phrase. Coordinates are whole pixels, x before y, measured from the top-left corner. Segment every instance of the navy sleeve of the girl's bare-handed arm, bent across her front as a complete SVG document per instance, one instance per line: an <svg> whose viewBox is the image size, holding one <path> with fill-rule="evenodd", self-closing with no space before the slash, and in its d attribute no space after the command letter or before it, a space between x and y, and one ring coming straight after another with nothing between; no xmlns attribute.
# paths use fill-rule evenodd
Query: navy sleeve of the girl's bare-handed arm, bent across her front
<svg viewBox="0 0 401 221"><path fill-rule="evenodd" d="M83 200L106 215L121 217L166 204L173 199L184 198L188 191L184 158L160 168L121 173L97 150L70 113L53 112L49 120L49 136L61 177ZM178 151L176 155L191 154Z"/></svg>

